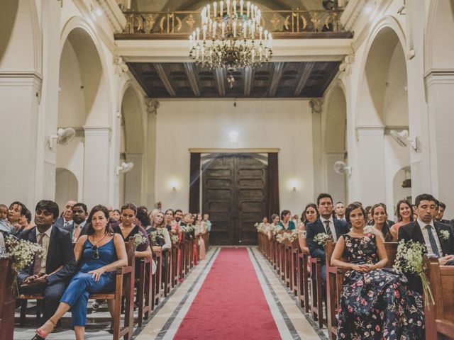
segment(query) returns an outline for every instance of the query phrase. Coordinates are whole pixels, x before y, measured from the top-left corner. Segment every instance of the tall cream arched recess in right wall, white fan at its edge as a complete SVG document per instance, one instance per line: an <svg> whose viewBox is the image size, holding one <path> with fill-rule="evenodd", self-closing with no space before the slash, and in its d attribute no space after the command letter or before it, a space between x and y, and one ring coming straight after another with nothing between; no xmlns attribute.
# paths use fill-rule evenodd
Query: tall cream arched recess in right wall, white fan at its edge
<svg viewBox="0 0 454 340"><path fill-rule="evenodd" d="M404 49L397 33L380 29L365 60L358 91L356 132L360 200L384 202L389 215L394 201L394 177L410 165L410 149L393 139L392 130L409 130Z"/></svg>

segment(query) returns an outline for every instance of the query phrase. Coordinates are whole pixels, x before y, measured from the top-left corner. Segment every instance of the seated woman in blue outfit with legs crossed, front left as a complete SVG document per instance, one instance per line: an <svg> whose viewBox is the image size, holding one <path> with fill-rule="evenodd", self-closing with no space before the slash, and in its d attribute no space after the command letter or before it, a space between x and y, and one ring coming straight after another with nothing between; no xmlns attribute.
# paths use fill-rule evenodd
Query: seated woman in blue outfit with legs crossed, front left
<svg viewBox="0 0 454 340"><path fill-rule="evenodd" d="M79 270L65 290L55 314L35 331L32 340L45 339L69 310L76 339L83 340L89 294L113 290L114 271L128 265L123 238L109 231L109 210L104 205L96 205L88 221L87 235L79 237L74 247Z"/></svg>

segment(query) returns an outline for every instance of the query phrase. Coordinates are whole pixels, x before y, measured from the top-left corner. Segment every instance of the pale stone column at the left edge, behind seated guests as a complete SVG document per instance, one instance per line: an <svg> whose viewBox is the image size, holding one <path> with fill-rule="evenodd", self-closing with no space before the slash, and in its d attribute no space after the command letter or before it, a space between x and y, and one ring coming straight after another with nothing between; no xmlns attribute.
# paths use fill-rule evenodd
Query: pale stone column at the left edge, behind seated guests
<svg viewBox="0 0 454 340"><path fill-rule="evenodd" d="M21 200L32 210L41 83L42 77L36 72L0 70L0 202L8 205Z"/></svg>

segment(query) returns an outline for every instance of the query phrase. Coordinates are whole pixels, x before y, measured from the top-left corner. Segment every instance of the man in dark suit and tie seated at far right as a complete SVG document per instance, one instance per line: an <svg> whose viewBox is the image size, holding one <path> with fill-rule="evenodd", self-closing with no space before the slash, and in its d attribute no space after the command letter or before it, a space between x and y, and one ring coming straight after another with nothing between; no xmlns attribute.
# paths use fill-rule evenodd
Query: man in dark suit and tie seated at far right
<svg viewBox="0 0 454 340"><path fill-rule="evenodd" d="M436 213L437 200L428 193L423 193L415 200L418 219L399 228L399 241L419 242L426 246L427 254L438 257L440 264L450 264L454 260L454 235L449 225L433 220ZM421 280L417 276L409 276L411 289L422 293Z"/></svg>

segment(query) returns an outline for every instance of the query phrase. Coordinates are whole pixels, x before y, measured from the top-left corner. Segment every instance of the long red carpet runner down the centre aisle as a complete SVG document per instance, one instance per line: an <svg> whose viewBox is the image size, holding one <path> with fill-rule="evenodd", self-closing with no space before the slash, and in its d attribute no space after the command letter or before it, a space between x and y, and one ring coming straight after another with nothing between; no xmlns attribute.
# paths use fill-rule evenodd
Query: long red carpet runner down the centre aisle
<svg viewBox="0 0 454 340"><path fill-rule="evenodd" d="M221 249L174 339L281 339L247 249Z"/></svg>

